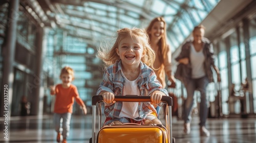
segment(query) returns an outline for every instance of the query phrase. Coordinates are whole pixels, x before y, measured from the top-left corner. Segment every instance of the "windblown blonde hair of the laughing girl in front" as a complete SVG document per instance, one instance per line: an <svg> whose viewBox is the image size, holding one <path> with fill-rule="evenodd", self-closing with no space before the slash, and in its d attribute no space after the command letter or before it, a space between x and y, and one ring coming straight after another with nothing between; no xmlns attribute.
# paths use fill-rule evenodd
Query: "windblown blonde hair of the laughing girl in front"
<svg viewBox="0 0 256 143"><path fill-rule="evenodd" d="M143 51L145 52L144 57L141 58L141 61L148 66L153 67L156 54L154 50L152 50L150 44L148 43L148 36L144 29L139 28L123 28L117 31L117 38L114 45L111 49L108 46L100 46L98 49L97 57L102 59L106 66L114 64L116 61L120 60L120 57L116 53L116 49L118 49L118 45L120 41L127 36L140 40L143 46Z"/></svg>

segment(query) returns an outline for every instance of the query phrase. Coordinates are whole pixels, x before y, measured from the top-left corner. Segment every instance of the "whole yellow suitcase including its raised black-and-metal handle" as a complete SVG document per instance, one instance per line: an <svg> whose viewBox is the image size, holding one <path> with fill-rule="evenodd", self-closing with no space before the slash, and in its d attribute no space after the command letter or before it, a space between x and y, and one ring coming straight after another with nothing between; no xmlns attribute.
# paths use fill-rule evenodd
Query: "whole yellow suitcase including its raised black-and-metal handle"
<svg viewBox="0 0 256 143"><path fill-rule="evenodd" d="M115 96L115 101L120 102L151 102L149 96ZM94 96L92 99L93 108L93 129L90 142L115 143L115 142L175 142L172 137L172 98L162 97L161 102L168 106L165 125L140 125L126 123L123 125L104 126L101 128L101 111L99 111L99 132L96 136L96 104L103 102L102 96Z"/></svg>

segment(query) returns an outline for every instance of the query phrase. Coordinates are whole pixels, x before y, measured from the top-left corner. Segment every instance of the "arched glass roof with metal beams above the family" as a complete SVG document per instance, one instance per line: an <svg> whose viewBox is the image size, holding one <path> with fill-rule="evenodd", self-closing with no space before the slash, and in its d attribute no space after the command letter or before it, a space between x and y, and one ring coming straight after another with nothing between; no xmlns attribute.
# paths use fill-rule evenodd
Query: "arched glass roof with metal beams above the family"
<svg viewBox="0 0 256 143"><path fill-rule="evenodd" d="M55 12L47 12L56 19L59 28L80 37L94 47L101 39L113 37L118 29L146 28L157 16L167 22L167 36L172 51L183 42L220 0L92 0L51 1Z"/></svg>

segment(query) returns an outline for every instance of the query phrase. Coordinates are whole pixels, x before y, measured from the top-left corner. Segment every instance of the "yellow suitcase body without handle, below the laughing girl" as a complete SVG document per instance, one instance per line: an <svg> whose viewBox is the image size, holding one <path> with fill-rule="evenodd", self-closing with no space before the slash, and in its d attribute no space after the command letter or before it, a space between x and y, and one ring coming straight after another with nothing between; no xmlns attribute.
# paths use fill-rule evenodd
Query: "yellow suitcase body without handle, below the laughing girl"
<svg viewBox="0 0 256 143"><path fill-rule="evenodd" d="M168 142L167 130L164 126L123 124L104 126L98 133L99 143L119 142Z"/></svg>

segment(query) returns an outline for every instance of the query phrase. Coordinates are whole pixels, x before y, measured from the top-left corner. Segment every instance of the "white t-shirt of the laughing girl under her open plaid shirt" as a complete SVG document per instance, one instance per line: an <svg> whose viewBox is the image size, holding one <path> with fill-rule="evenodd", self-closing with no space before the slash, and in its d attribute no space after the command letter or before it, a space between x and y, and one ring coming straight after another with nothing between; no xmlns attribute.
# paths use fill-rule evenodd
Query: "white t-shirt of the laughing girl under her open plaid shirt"
<svg viewBox="0 0 256 143"><path fill-rule="evenodd" d="M123 95L138 95L140 96L140 90L137 87L138 78L134 81L129 81L125 78L125 85L123 86ZM123 106L119 117L136 118L139 117L138 102L123 102Z"/></svg>

